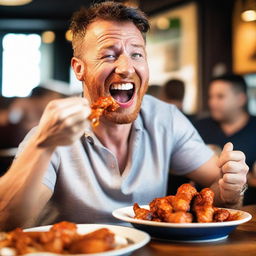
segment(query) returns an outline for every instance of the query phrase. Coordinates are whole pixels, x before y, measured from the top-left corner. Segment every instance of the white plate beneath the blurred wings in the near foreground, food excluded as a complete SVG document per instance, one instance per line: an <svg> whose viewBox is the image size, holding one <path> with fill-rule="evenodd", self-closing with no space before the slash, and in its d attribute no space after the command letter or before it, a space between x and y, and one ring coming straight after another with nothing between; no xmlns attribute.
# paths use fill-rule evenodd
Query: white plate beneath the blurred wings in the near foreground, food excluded
<svg viewBox="0 0 256 256"><path fill-rule="evenodd" d="M116 225L105 225L105 224L77 224L78 233L86 234L92 232L96 229L100 228L108 228L115 234L115 240L117 246L125 245L125 247L115 250L110 250L107 252L102 253L93 253L93 254L74 254L74 256L115 256L115 255L126 255L131 253L134 250L137 250L147 244L150 240L150 236L140 230L123 227L123 226L116 226ZM48 231L51 226L42 226L36 228L25 229L26 232L29 231ZM60 254L56 253L28 253L26 256L56 256ZM71 254L65 254L71 255Z"/></svg>

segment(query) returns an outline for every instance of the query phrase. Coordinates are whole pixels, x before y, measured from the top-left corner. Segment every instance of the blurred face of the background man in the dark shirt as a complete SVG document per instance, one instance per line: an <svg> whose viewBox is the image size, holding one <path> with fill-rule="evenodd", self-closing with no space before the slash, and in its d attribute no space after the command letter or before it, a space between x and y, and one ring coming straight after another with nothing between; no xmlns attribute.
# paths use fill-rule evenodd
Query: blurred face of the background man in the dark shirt
<svg viewBox="0 0 256 256"><path fill-rule="evenodd" d="M243 108L245 96L235 91L229 82L216 80L210 85L208 103L212 118L226 122Z"/></svg>

